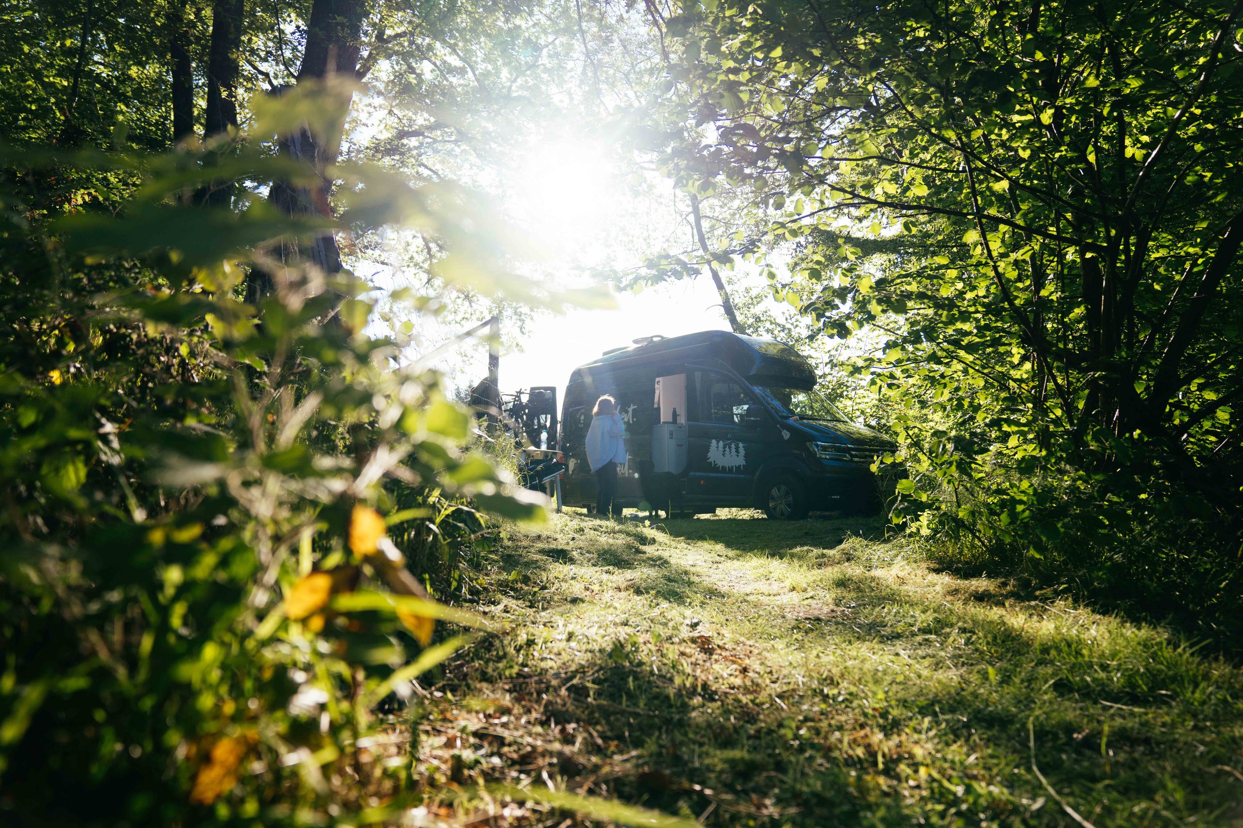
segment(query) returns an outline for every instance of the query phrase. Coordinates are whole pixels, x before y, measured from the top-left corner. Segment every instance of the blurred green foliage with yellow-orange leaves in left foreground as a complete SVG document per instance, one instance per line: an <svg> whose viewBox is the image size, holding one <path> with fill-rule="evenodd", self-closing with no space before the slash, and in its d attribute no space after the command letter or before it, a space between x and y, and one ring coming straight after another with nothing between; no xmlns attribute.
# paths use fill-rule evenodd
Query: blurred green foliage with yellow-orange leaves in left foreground
<svg viewBox="0 0 1243 828"><path fill-rule="evenodd" d="M331 128L331 92L256 106L252 134ZM426 587L462 588L457 556L486 531L474 505L542 514L462 451L471 421L436 375L364 333L369 286L316 263L347 228L469 241L455 217L470 211L444 189L230 140L210 164L6 150L7 824L326 824L401 807L414 768L375 708L464 642L438 621L486 626ZM349 182L338 218L249 195L321 176ZM222 179L249 182L234 209L191 204Z"/></svg>

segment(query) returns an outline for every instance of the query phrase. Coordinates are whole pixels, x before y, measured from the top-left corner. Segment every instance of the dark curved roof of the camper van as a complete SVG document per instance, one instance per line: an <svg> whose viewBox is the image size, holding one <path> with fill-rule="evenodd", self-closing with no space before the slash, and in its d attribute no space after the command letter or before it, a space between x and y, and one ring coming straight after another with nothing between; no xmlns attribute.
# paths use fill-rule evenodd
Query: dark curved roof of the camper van
<svg viewBox="0 0 1243 828"><path fill-rule="evenodd" d="M751 382L781 381L793 387L815 385L815 370L802 354L776 339L743 336L727 330L654 339L641 345L605 351L578 371L620 370L645 362L718 360Z"/></svg>

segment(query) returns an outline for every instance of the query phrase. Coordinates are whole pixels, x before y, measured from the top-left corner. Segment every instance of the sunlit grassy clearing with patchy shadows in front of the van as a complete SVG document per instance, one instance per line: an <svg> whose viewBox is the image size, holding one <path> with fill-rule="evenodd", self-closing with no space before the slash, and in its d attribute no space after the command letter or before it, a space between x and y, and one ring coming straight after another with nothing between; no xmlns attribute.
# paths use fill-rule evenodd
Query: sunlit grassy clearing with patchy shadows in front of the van
<svg viewBox="0 0 1243 828"><path fill-rule="evenodd" d="M510 530L503 632L415 708L462 792L420 821L582 824L484 781L706 826L1243 824L1237 665L880 521L756 514Z"/></svg>

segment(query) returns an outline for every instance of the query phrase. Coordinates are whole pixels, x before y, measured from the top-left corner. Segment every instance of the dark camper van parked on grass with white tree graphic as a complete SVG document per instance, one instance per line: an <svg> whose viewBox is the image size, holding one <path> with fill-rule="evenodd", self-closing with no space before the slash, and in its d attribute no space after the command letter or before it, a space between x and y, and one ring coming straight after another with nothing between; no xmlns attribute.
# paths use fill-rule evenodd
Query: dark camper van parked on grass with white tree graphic
<svg viewBox="0 0 1243 828"><path fill-rule="evenodd" d="M800 519L810 510L874 513L886 499L870 467L895 444L819 395L798 351L710 330L635 340L574 370L561 422L567 505L595 503L584 443L602 394L617 398L626 427L622 506L755 506Z"/></svg>

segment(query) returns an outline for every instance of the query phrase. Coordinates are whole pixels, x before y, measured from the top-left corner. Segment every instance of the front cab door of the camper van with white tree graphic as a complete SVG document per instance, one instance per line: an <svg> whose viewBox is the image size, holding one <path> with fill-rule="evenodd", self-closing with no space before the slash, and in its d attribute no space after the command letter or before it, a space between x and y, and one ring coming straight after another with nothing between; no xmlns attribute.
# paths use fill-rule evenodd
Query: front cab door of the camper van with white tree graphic
<svg viewBox="0 0 1243 828"><path fill-rule="evenodd" d="M748 389L727 374L707 370L687 376L686 495L710 504L748 504L751 478L759 468L763 427ZM752 415L752 416L748 416Z"/></svg>

